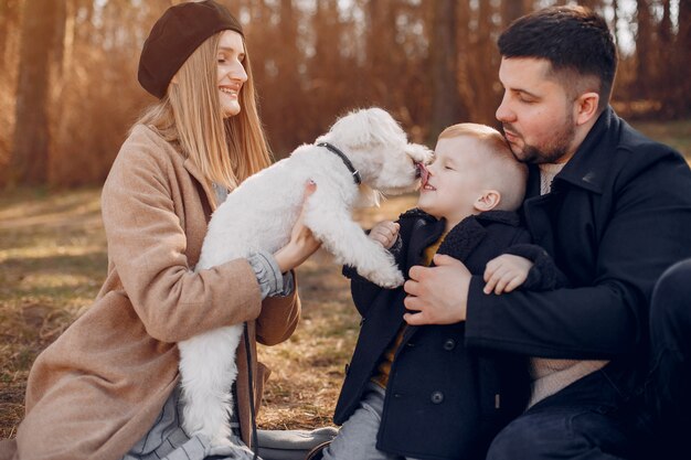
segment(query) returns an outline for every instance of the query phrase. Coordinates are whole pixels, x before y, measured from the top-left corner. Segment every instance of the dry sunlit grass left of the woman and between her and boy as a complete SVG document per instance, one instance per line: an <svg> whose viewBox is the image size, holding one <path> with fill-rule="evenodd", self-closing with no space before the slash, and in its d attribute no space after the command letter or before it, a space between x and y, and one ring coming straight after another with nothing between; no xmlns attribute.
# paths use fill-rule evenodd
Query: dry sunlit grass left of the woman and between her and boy
<svg viewBox="0 0 691 460"><path fill-rule="evenodd" d="M23 416L31 363L87 308L105 278L106 240L99 190L0 196L0 438L13 437ZM414 199L385 202L359 218L394 218ZM343 365L357 338L347 280L330 256L317 253L299 268L304 318L293 338L261 347L272 370L262 428L328 425Z"/></svg>

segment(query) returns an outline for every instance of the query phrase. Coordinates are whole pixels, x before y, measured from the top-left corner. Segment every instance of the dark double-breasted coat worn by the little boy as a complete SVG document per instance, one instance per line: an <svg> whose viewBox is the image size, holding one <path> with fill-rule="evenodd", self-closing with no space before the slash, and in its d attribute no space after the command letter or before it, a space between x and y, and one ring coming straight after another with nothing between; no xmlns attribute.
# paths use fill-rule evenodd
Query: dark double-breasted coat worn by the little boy
<svg viewBox="0 0 691 460"><path fill-rule="evenodd" d="M557 277L549 269L546 253L525 244L530 237L519 221L518 214L508 212L468 217L449 232L438 254L448 254L481 275L490 259L513 247L513 253L535 260L539 270L529 276L532 287L554 288L551 284ZM410 267L421 263L424 249L439 238L445 222L414 210L398 223L400 236L391 250L407 275ZM362 322L336 407L339 425L358 407L405 312L403 288L381 289L349 267L344 274L352 278ZM407 328L389 377L380 450L421 459L480 459L492 436L525 407L524 360L496 352L469 353L464 329L464 323Z"/></svg>

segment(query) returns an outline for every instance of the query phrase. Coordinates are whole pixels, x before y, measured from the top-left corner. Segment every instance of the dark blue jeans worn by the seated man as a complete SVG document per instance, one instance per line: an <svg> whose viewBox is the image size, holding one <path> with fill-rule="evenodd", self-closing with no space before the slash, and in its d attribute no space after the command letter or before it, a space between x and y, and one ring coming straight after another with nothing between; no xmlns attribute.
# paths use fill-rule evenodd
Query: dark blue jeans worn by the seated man
<svg viewBox="0 0 691 460"><path fill-rule="evenodd" d="M658 280L650 304L645 391L623 400L600 371L509 424L488 460L691 458L691 259Z"/></svg>

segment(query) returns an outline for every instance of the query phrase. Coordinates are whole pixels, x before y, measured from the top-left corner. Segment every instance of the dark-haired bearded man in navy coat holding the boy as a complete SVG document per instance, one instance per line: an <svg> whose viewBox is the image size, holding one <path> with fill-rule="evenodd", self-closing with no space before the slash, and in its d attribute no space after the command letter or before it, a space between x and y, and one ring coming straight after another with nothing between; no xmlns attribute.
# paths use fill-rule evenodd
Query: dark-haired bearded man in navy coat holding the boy
<svg viewBox="0 0 691 460"><path fill-rule="evenodd" d="M691 172L608 106L617 55L602 17L541 10L511 24L499 50L497 118L530 164L525 223L571 287L485 295L482 279L437 256L411 269L404 318L465 321L468 346L531 356L529 408L488 459L632 458L652 288L691 257Z"/></svg>

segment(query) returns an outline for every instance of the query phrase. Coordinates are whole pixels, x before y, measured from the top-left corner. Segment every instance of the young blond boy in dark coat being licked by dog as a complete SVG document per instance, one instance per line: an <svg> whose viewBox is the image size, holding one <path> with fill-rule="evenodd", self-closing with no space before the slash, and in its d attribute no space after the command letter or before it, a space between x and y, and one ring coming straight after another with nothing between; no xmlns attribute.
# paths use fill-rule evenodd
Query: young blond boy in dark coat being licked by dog
<svg viewBox="0 0 691 460"><path fill-rule="evenodd" d="M562 278L515 213L527 173L495 129L451 126L423 174L418 207L370 237L404 274L448 254L485 274L487 293L553 289ZM343 426L323 459L485 458L493 435L525 407L525 362L466 349L465 323L407 325L403 288L379 288L350 267L344 274L362 322L334 414Z"/></svg>

